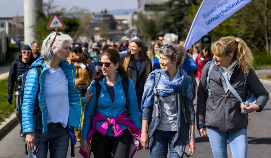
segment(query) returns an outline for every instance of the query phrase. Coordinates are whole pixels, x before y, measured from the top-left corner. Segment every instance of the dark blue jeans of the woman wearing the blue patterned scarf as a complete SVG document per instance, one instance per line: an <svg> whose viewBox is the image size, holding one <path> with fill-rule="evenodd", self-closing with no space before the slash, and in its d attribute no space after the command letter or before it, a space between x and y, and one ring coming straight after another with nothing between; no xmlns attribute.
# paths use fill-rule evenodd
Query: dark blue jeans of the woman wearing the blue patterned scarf
<svg viewBox="0 0 271 158"><path fill-rule="evenodd" d="M177 131L161 131L156 129L153 134L154 142L150 148L151 158L167 157L168 148L169 158L180 158L180 155L173 148L173 142L176 133ZM183 155L181 156L181 158L183 157Z"/></svg>

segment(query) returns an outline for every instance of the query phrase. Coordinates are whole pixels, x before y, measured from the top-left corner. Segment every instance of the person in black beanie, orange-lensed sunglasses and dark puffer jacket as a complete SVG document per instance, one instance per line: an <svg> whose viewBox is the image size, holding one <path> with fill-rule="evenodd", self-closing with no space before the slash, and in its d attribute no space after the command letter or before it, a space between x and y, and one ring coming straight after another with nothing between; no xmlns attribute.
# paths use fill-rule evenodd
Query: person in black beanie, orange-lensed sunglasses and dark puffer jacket
<svg viewBox="0 0 271 158"><path fill-rule="evenodd" d="M17 60L14 60L12 62L12 65L10 67L10 73L8 76L8 102L12 104L12 94L15 88L15 114L17 116L17 119L21 125L20 130L20 137L23 137L23 128L22 128L22 115L17 111L17 108L19 107L18 104L18 85L17 85L17 78L21 74L23 74L25 71L28 71L31 69L31 64L33 63L34 57L31 54L31 48L28 45L23 45L21 48L21 55ZM15 84L16 83L16 84Z"/></svg>

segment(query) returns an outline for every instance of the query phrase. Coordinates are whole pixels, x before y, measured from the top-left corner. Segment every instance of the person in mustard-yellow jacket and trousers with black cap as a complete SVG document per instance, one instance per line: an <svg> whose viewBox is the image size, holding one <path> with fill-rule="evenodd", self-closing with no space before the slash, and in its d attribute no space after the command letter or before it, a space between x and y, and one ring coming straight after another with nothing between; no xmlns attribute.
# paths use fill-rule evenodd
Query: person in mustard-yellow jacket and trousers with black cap
<svg viewBox="0 0 271 158"><path fill-rule="evenodd" d="M69 64L74 64L76 68L76 75L74 78L75 86L81 96L85 96L87 92L87 87L89 87L91 82L91 74L94 74L95 65L91 61L91 59L85 54L83 54L83 50L80 44L73 44L71 49L70 57L69 57ZM84 111L85 106L83 106L83 117L82 117L82 124L81 129L83 126L83 119L84 119ZM81 131L74 128L75 136L77 143L75 147L80 147L81 145Z"/></svg>

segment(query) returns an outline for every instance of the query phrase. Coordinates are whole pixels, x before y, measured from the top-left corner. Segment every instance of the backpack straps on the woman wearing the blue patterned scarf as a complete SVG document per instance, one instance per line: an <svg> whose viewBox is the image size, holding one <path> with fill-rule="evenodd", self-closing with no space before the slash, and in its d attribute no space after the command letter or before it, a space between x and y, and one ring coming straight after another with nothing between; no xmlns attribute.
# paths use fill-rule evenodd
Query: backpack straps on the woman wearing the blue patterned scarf
<svg viewBox="0 0 271 158"><path fill-rule="evenodd" d="M158 111L158 101L157 101L157 91L156 91L156 87L157 87L157 84L160 80L160 76L161 76L161 73L160 73L161 69L156 69L155 70L155 74L154 74L154 86L153 86L153 91L154 91L154 102L155 102L155 112L156 112L156 116L158 116L159 114L159 111ZM186 115L185 115L185 109L184 109L184 99L186 97L186 90L189 86L189 82L191 80L191 76L188 76L187 75L187 79L186 79L186 83L185 83L185 86L182 87L182 111L184 113L184 119L185 119L185 123L187 124L187 119L186 119Z"/></svg>

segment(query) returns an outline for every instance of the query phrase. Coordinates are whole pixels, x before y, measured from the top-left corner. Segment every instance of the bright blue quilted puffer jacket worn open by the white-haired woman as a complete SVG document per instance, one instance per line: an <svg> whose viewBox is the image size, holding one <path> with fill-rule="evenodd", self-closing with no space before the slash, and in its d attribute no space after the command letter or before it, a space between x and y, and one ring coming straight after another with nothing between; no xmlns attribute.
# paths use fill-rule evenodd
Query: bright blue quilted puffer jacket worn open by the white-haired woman
<svg viewBox="0 0 271 158"><path fill-rule="evenodd" d="M67 61L61 61L59 63L60 67L63 69L66 78L68 79L68 89L69 89L69 119L68 125L80 130L81 120L82 120L82 105L85 104L85 97L81 98L80 93L76 90L74 85L75 77L75 67L73 64L69 65ZM44 81L45 81L45 71L50 69L44 64L44 58L38 58L31 65L32 67L41 66L43 69L41 71L41 76L38 78L38 73L36 69L30 69L26 76L25 90L23 96L22 105L22 122L23 122L23 133L28 132L34 133L34 126L36 125L36 116L33 116L34 112L34 102L36 95L39 95L39 107L42 112L42 127L37 127L42 129L42 133L47 132L47 115L46 115L46 105L44 100ZM41 89L38 92L38 85L41 85ZM52 87L54 91L54 87ZM59 96L61 99L61 96ZM56 114L57 115L57 114Z"/></svg>

